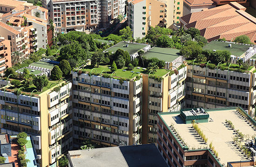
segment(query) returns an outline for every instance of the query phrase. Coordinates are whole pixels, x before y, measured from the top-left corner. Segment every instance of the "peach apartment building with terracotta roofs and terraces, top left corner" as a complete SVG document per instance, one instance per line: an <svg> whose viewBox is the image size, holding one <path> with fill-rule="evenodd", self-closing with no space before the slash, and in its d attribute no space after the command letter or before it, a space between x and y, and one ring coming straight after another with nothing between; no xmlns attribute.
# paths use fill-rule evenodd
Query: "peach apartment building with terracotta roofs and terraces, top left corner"
<svg viewBox="0 0 256 167"><path fill-rule="evenodd" d="M22 51L27 57L38 48L46 48L47 13L40 6L20 5L2 15L0 36L10 40L11 52Z"/></svg>

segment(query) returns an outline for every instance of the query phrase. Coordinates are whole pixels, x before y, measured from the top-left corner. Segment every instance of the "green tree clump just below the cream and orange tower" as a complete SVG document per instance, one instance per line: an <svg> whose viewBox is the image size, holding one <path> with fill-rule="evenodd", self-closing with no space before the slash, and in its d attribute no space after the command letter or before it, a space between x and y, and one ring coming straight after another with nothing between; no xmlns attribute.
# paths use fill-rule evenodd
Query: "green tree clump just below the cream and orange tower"
<svg viewBox="0 0 256 167"><path fill-rule="evenodd" d="M164 27L159 27L159 26L155 26L155 28L150 27L145 39L148 39L148 43L156 44L156 41L159 37L161 37L162 35L171 35L172 32L173 31L171 29L164 28Z"/></svg>

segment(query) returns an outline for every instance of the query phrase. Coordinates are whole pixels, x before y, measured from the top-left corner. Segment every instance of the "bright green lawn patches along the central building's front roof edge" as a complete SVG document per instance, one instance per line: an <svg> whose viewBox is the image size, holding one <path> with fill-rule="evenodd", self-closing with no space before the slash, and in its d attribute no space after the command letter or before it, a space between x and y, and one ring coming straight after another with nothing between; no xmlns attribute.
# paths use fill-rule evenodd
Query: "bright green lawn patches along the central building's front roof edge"
<svg viewBox="0 0 256 167"><path fill-rule="evenodd" d="M99 67L94 67L97 72L95 70L93 70L93 72L95 73L101 73L102 70L105 70L107 71L107 74L112 74L112 72L110 71L109 67L111 65L100 65ZM140 73L144 73L146 74L147 73L147 70L142 70L143 67L140 67L140 69L137 69L137 67L135 67L133 70L131 71L134 71L134 72L140 72ZM84 71L87 71L87 72L91 72L91 69L92 67L91 66L86 66L84 68ZM136 77L137 75L139 75L138 73L135 73L133 75L134 72L131 72L131 71L123 71L123 70L127 70L127 67L124 67L122 69L117 69L117 71L115 71L116 73L116 77L122 77L122 78L127 78L127 79L131 79L133 77ZM162 77L163 75L165 75L166 73L168 73L169 70L165 70L165 69L158 69L156 72L155 72L155 76L159 76L159 77ZM104 74L105 72L102 72L102 74ZM132 76L133 75L133 76ZM113 77L115 77L115 74L113 74Z"/></svg>

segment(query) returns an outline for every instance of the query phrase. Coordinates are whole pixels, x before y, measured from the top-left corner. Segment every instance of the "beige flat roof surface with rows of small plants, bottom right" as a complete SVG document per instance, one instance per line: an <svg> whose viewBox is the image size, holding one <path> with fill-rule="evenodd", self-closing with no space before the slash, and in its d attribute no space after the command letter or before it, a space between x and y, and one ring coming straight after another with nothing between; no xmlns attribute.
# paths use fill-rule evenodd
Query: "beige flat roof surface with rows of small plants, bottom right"
<svg viewBox="0 0 256 167"><path fill-rule="evenodd" d="M198 123L198 126L208 138L208 147L212 142L212 145L219 154L221 164L224 163L227 166L227 162L229 161L247 160L239 149L232 144L232 137L235 136L234 131L225 123L225 120L230 120L234 124L235 129L239 129L245 136L249 135L250 139L256 134L253 127L251 127L248 122L245 122L244 118L239 114L239 111L234 108L205 110L209 114L209 122ZM183 122L182 118L179 116L180 113L160 113L159 115L168 127L172 125L175 128L188 145L189 149L207 147L192 128L192 124L185 124Z"/></svg>

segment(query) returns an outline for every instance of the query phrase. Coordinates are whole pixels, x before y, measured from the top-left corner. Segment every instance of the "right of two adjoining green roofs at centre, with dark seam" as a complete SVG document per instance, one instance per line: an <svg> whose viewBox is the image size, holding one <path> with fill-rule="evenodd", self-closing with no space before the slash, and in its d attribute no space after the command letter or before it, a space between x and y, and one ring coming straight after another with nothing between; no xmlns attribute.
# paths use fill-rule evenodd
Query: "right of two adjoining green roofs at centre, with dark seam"
<svg viewBox="0 0 256 167"><path fill-rule="evenodd" d="M180 56L179 52L178 49L153 47L144 55L146 58L158 58L166 62L172 62Z"/></svg>

